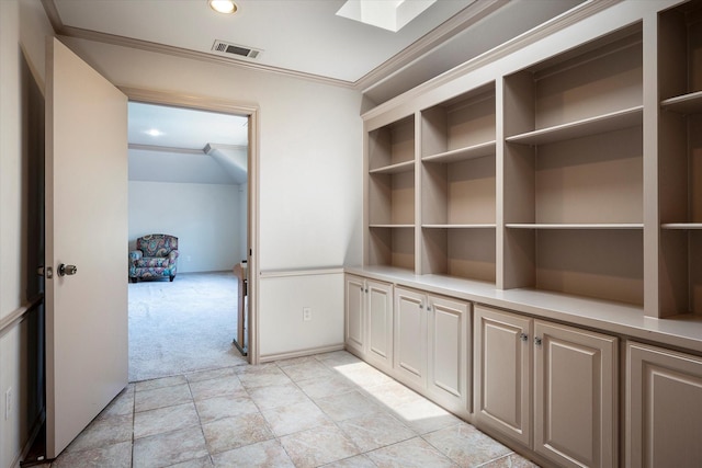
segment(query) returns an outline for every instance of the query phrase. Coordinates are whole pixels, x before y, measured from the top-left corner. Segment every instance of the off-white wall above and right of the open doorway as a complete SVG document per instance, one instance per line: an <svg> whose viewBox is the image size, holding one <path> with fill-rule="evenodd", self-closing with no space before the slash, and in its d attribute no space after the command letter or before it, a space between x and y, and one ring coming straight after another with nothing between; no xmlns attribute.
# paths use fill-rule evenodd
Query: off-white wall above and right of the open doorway
<svg viewBox="0 0 702 468"><path fill-rule="evenodd" d="M117 85L259 106L260 230L254 254L261 272L361 263L360 92L84 39L65 42ZM261 285L261 355L314 350L330 341L342 344L342 294L326 296L316 318L304 324L305 338L290 332L291 320L303 326L296 309L310 297L306 292L325 288L342 292L341 275L290 276L276 279L274 287ZM279 307L282 304L291 307Z"/></svg>

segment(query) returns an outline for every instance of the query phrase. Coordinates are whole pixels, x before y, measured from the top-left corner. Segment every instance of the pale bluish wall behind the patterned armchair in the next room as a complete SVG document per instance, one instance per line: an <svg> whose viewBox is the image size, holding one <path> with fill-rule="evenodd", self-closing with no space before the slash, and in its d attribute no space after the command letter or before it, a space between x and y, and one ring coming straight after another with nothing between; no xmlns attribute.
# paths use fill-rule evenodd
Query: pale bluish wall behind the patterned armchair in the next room
<svg viewBox="0 0 702 468"><path fill-rule="evenodd" d="M246 252L239 190L238 185L129 181L129 250L140 236L169 233L178 237L179 273L230 271Z"/></svg>

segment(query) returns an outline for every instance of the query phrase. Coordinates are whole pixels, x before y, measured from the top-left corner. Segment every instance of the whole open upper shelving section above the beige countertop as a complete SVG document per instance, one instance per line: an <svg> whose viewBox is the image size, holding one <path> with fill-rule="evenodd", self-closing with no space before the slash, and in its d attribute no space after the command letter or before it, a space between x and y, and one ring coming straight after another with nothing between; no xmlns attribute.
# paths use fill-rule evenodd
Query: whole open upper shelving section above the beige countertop
<svg viewBox="0 0 702 468"><path fill-rule="evenodd" d="M702 0L621 3L364 115L365 265L702 315Z"/></svg>

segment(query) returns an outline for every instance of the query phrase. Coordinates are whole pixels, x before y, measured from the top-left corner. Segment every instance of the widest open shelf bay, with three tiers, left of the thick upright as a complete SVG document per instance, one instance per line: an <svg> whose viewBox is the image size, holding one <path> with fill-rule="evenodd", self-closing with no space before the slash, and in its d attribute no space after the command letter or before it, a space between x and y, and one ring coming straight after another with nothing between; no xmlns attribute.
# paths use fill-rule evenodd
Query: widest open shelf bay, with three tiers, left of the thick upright
<svg viewBox="0 0 702 468"><path fill-rule="evenodd" d="M643 50L630 26L505 78L505 288L643 306Z"/></svg>

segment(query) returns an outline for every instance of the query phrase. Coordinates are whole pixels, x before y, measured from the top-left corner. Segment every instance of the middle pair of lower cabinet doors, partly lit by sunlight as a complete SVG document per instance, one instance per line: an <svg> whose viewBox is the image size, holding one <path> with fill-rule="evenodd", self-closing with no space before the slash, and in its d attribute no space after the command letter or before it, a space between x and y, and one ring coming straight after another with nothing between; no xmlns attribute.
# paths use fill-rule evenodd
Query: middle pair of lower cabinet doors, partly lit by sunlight
<svg viewBox="0 0 702 468"><path fill-rule="evenodd" d="M394 375L462 416L471 411L469 310L466 303L395 288Z"/></svg>

